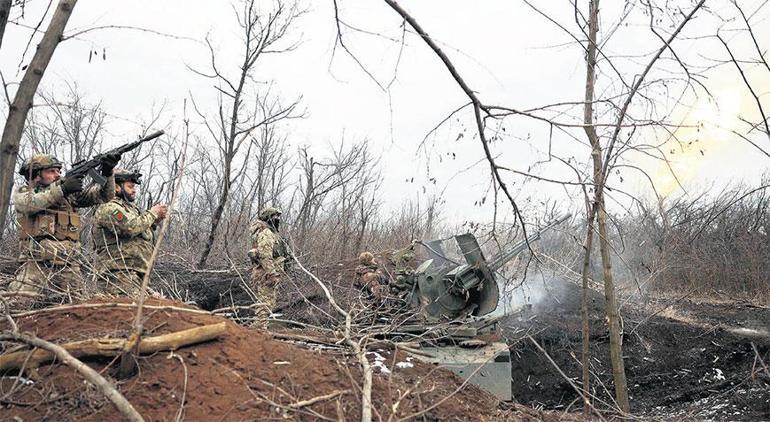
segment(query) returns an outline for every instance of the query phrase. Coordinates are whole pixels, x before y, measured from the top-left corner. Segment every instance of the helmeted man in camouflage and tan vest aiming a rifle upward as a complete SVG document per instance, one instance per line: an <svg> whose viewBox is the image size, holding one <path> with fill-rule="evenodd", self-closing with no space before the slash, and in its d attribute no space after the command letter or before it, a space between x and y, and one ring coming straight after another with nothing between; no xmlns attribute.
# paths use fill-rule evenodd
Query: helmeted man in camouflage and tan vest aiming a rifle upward
<svg viewBox="0 0 770 422"><path fill-rule="evenodd" d="M12 196L19 224L22 262L11 292L42 294L52 302L82 293L85 286L80 274L80 215L78 208L91 207L111 200L115 195L112 170L120 155L102 158L104 185L83 189L83 179L61 177L62 163L56 157L36 154L19 170L27 183ZM58 298L57 298L58 296Z"/></svg>

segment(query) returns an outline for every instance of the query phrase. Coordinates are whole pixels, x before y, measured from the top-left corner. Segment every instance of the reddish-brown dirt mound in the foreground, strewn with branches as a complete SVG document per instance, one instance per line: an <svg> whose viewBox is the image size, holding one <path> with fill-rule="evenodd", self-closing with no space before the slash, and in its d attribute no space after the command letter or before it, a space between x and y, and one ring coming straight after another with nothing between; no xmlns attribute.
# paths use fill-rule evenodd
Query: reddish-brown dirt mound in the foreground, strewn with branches
<svg viewBox="0 0 770 422"><path fill-rule="evenodd" d="M147 335L224 321L169 308L183 306L178 302L155 300L149 305ZM128 332L133 308L97 302L89 306L95 307L47 310L19 317L17 323L22 331L57 343ZM5 350L12 347L4 346ZM501 410L494 397L463 385L453 373L401 354L380 350L368 357L375 365L375 414L382 418L392 413L397 417L419 414L427 420L547 417L518 407ZM107 358L85 361L106 376L116 366ZM298 347L232 322L217 341L143 356L138 363L136 376L113 381L147 420L171 420L180 412L187 420L344 420L357 419L361 411L361 371L352 356L341 349ZM42 366L34 381L8 375L0 379L2 419L118 419L111 403L64 365ZM328 398L298 406L322 396Z"/></svg>

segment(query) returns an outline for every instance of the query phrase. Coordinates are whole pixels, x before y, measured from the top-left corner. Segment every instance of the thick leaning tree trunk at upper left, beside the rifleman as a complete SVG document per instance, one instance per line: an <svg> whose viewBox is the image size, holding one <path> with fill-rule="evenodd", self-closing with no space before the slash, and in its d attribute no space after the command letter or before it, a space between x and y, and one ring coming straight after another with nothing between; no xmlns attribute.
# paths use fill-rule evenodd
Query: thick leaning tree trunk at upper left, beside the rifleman
<svg viewBox="0 0 770 422"><path fill-rule="evenodd" d="M53 52L61 41L64 28L67 26L67 21L76 3L77 0L61 0L59 2L56 12L51 18L51 23L48 25L48 30L38 44L35 56L24 73L13 98L13 103L8 110L8 120L5 122L3 138L0 141L0 227L5 227L5 219L8 216L11 188L13 187L13 171L16 168L24 121L32 108L37 87L40 80L43 79L43 74L51 61ZM1 237L2 233L0 232Z"/></svg>

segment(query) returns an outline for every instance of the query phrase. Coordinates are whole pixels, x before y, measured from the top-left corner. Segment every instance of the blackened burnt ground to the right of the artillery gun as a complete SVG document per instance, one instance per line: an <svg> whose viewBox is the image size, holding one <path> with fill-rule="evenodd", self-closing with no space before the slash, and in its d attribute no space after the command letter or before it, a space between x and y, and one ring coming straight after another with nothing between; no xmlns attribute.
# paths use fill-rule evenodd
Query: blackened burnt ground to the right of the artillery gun
<svg viewBox="0 0 770 422"><path fill-rule="evenodd" d="M528 341L529 332L558 366L580 384L580 292L569 283L506 323L516 400L550 409L580 408L572 387ZM594 394L613 391L603 298L591 294ZM770 419L770 308L747 302L651 299L626 304L623 353L636 415L681 419ZM756 352L755 352L756 348ZM606 407L596 403L598 407Z"/></svg>

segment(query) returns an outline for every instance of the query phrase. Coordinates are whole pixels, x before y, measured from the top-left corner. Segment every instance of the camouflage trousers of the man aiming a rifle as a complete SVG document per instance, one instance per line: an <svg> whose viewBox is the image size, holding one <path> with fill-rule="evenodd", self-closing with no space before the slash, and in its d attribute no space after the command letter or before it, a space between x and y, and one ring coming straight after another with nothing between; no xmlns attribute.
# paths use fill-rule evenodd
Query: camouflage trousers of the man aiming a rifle
<svg viewBox="0 0 770 422"><path fill-rule="evenodd" d="M47 304L71 302L87 294L79 264L60 265L50 261L25 261L8 285L8 291L28 294L26 302L37 299ZM20 295L18 302L25 302L23 297Z"/></svg>

